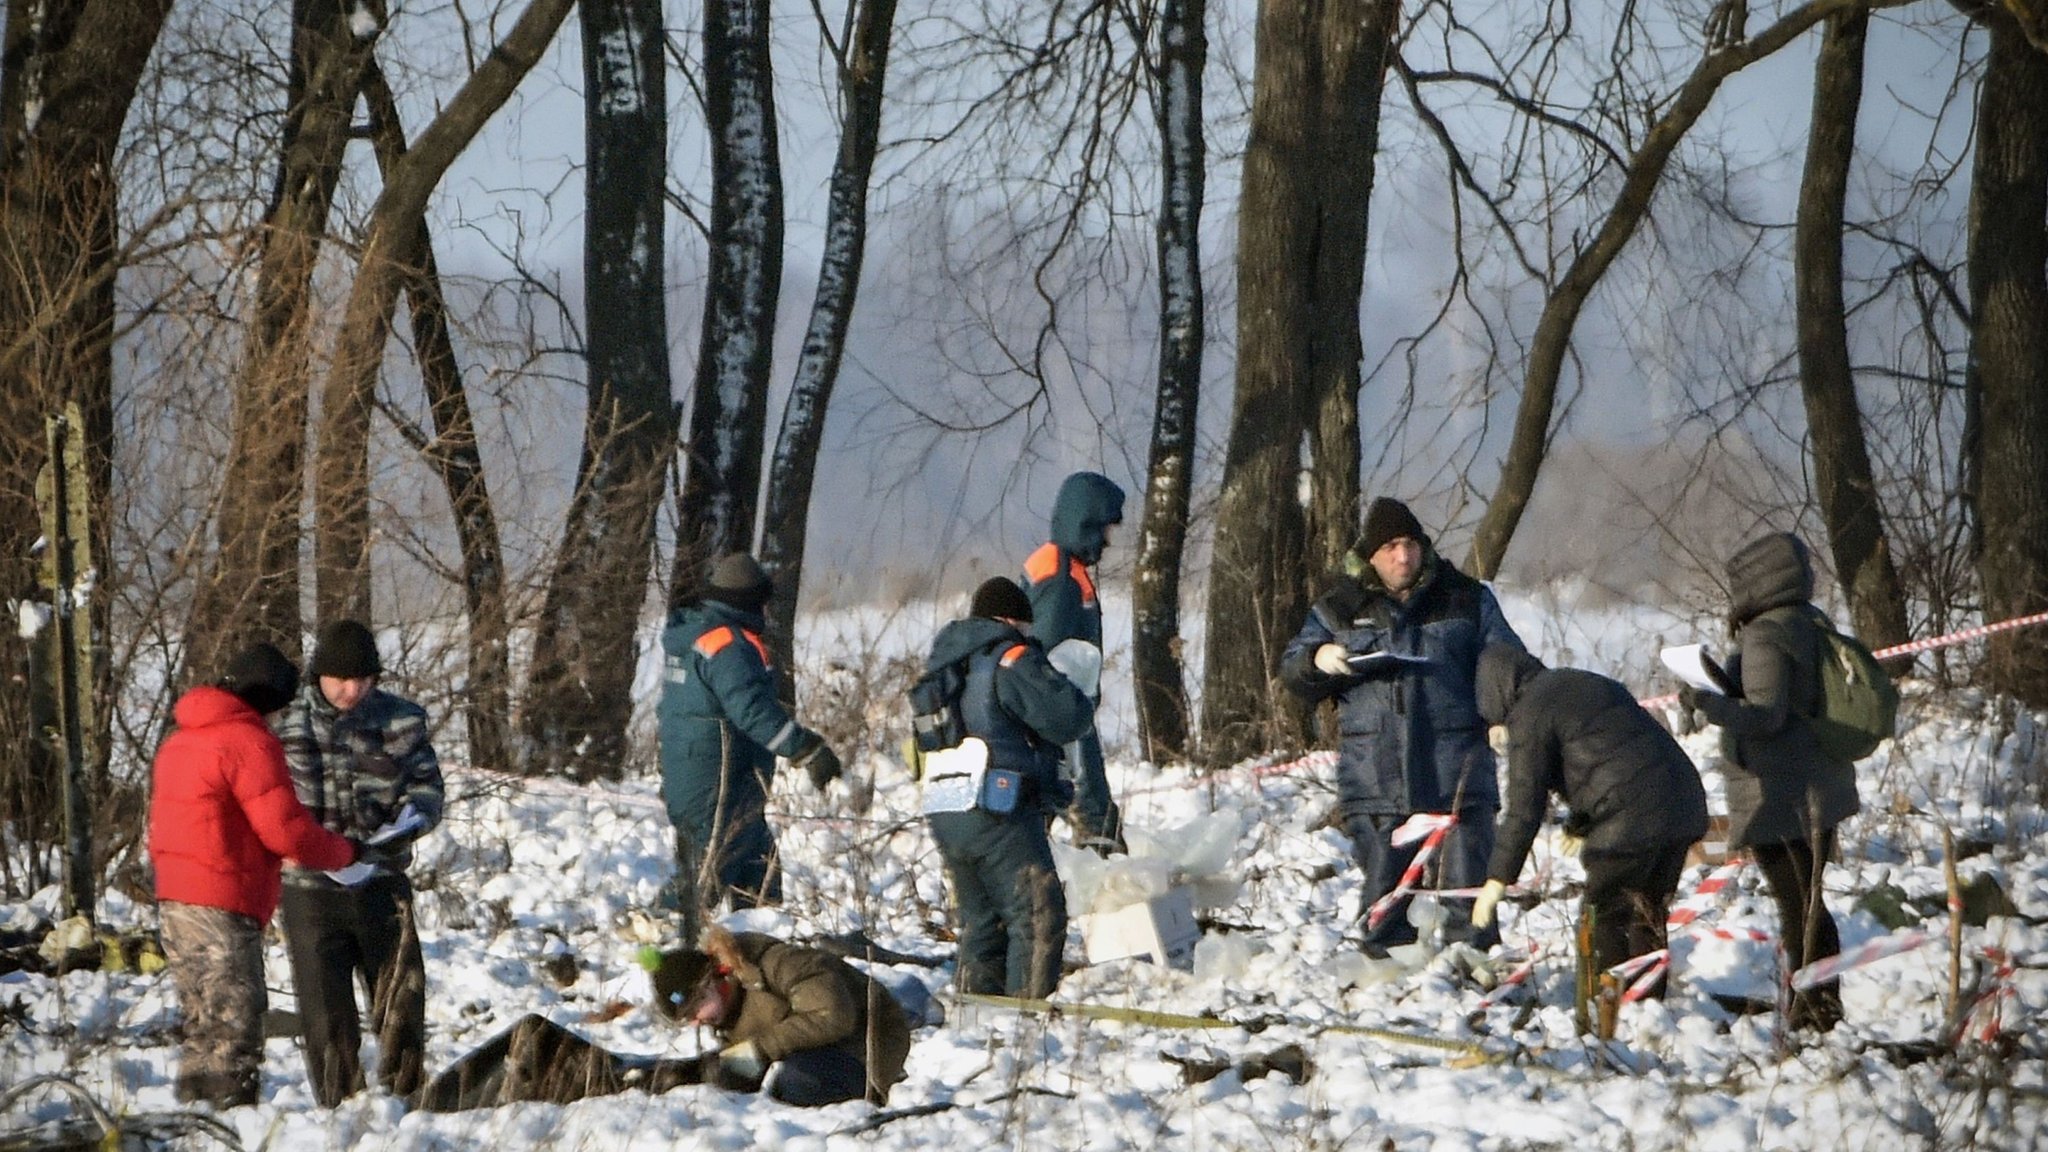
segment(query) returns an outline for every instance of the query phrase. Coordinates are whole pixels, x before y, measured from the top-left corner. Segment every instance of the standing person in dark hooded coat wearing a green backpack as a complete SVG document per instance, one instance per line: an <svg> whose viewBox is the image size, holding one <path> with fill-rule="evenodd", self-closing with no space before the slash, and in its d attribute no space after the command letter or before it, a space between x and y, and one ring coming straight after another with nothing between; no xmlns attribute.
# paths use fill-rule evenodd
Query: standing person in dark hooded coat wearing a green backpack
<svg viewBox="0 0 2048 1152"><path fill-rule="evenodd" d="M1812 732L1821 711L1821 646L1827 615L1812 605L1812 560L1790 533L1767 533L1729 560L1729 660L1733 695L1694 687L1686 707L1720 726L1729 779L1729 847L1749 849L1778 904L1792 972L1841 951L1821 898L1835 855L1835 826L1855 816L1855 765L1831 758ZM1792 1027L1841 1021L1841 982L1792 994Z"/></svg>

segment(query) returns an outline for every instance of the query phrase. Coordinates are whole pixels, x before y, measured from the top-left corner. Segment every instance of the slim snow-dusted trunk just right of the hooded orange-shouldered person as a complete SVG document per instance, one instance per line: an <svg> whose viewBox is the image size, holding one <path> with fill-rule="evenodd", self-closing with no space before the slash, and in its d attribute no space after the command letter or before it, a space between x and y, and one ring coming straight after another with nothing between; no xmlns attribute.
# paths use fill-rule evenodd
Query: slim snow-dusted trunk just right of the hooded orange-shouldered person
<svg viewBox="0 0 2048 1152"><path fill-rule="evenodd" d="M1204 0L1165 0L1153 68L1159 123L1159 396L1145 465L1145 515L1130 574L1130 672L1145 756L1188 754L1190 703L1180 660L1180 576L1194 486L1194 433L1202 400L1204 293L1202 70L1208 61Z"/></svg>

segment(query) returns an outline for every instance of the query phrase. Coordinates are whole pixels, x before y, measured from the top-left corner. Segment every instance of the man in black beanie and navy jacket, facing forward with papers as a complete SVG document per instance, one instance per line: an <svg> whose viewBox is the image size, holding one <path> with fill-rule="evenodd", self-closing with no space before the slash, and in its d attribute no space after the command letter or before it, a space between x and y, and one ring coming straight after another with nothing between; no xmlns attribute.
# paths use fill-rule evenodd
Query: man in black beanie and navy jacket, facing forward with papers
<svg viewBox="0 0 2048 1152"><path fill-rule="evenodd" d="M1337 705L1337 812L1364 873L1368 953L1415 941L1399 904L1376 927L1368 916L1421 847L1393 842L1409 816L1456 816L1425 888L1485 879L1499 783L1475 678L1489 644L1522 648L1493 590L1442 560L1409 506L1382 496L1280 656L1290 691ZM1448 935L1479 947L1499 939L1462 916Z"/></svg>

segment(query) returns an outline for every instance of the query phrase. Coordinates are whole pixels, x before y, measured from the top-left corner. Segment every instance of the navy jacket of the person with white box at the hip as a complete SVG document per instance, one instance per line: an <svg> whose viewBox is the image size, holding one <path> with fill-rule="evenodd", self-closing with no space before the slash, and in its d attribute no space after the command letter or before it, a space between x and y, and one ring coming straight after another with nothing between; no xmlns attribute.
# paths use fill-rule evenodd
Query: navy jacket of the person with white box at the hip
<svg viewBox="0 0 2048 1152"><path fill-rule="evenodd" d="M1024 797L1061 808L1061 746L1094 724L1094 703L1044 658L1036 640L999 619L956 619L938 631L926 670L965 664L961 717L989 746L989 767L1024 777Z"/></svg>

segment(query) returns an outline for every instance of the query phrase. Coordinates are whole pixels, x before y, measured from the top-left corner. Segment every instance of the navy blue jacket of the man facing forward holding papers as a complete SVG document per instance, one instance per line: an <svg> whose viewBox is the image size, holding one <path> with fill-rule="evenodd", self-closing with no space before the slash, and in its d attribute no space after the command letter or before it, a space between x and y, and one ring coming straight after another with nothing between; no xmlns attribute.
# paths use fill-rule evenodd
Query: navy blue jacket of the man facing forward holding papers
<svg viewBox="0 0 2048 1152"><path fill-rule="evenodd" d="M1315 666L1323 644L1419 656L1425 664L1329 676ZM1280 656L1280 681L1309 701L1337 701L1343 816L1450 812L1460 799L1462 808L1499 808L1475 695L1479 652L1489 644L1522 648L1522 637L1507 627L1493 592L1434 549L1407 603L1395 601L1370 568L1339 576L1315 603Z"/></svg>

